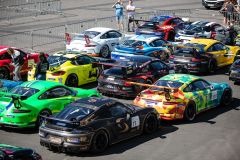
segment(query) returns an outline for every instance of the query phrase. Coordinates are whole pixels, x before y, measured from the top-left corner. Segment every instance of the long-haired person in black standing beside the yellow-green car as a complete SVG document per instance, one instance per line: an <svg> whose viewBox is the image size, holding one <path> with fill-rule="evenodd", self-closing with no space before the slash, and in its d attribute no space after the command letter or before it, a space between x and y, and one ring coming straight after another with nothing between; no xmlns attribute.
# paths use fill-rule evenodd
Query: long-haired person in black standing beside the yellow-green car
<svg viewBox="0 0 240 160"><path fill-rule="evenodd" d="M49 69L49 63L43 52L39 53L39 62L35 70L34 78L37 80L46 80L46 72Z"/></svg>

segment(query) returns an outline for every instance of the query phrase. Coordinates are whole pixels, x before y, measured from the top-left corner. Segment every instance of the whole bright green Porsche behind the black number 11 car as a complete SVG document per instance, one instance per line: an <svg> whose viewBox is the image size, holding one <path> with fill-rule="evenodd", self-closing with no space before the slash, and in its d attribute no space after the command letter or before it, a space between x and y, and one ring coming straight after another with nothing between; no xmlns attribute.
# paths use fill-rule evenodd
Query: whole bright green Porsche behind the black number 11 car
<svg viewBox="0 0 240 160"><path fill-rule="evenodd" d="M39 126L39 114L58 113L76 98L101 97L95 90L49 81L28 81L0 95L0 125L17 128Z"/></svg>

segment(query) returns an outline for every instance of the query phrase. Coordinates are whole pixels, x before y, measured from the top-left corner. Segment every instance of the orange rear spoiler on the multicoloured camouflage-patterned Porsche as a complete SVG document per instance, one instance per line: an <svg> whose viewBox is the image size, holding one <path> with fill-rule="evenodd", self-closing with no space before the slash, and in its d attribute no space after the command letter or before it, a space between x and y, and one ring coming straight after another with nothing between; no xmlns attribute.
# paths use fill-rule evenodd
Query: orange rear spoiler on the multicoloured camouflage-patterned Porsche
<svg viewBox="0 0 240 160"><path fill-rule="evenodd" d="M170 90L173 90L174 93L178 92L178 88L162 87L162 86L155 86L155 85L144 84L144 83L135 83L135 82L125 82L125 84L139 85L139 86L144 86L144 87L154 87L154 88L164 89L164 92L166 92L165 93L165 98L168 101L171 99L171 96L169 94Z"/></svg>

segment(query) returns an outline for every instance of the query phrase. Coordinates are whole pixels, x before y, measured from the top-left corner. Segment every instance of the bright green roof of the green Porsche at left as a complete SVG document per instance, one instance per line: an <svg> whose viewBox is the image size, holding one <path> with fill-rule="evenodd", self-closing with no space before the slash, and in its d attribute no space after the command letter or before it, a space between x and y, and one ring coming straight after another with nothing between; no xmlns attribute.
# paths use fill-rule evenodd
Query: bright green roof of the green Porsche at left
<svg viewBox="0 0 240 160"><path fill-rule="evenodd" d="M61 83L57 83L57 82L52 82L52 81L40 81L40 80L32 80L32 81L28 81L25 82L23 84L20 85L21 87L29 87L29 88L35 88L38 90L45 90L48 88L53 88L56 86L64 86Z"/></svg>

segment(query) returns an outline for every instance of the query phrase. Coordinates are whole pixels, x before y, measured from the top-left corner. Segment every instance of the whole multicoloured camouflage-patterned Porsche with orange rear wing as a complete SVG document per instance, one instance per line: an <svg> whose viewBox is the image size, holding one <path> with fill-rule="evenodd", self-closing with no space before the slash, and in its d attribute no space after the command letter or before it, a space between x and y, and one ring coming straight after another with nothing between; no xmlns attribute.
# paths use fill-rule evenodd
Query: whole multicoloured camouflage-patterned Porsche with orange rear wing
<svg viewBox="0 0 240 160"><path fill-rule="evenodd" d="M195 115L216 107L228 106L232 101L232 89L227 83L214 83L200 77L185 74L170 74L149 87L134 100L134 104L153 107L162 119L186 119L192 121Z"/></svg>

